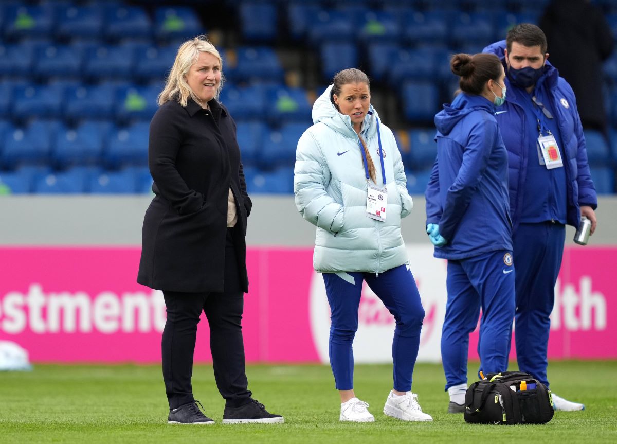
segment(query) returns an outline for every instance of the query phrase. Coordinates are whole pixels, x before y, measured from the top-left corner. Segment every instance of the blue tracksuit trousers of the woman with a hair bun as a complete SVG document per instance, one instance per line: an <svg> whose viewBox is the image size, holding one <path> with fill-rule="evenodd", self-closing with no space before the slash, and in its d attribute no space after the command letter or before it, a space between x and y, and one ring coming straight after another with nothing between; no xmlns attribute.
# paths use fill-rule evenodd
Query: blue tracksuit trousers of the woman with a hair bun
<svg viewBox="0 0 617 444"><path fill-rule="evenodd" d="M511 258L509 251L492 251L448 261L448 301L441 335L445 390L467 383L469 333L476 329L480 309L478 354L482 370L484 374L507 370L518 273Z"/></svg>

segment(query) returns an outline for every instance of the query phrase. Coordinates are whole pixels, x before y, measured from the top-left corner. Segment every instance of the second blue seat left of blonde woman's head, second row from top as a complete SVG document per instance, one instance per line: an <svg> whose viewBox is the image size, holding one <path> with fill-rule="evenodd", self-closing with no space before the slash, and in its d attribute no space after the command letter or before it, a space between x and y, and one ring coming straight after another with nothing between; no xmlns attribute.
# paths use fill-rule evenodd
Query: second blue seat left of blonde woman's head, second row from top
<svg viewBox="0 0 617 444"><path fill-rule="evenodd" d="M87 80L126 79L133 75L133 48L128 45L101 45L85 56L83 77Z"/></svg>

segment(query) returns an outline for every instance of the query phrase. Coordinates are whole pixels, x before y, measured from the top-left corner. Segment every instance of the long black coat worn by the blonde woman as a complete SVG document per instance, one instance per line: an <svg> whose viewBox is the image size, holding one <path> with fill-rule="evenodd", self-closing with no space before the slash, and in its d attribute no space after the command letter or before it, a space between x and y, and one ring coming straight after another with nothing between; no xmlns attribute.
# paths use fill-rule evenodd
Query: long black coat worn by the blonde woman
<svg viewBox="0 0 617 444"><path fill-rule="evenodd" d="M251 199L236 140L236 124L216 99L202 109L189 99L162 105L152 117L148 164L155 193L146 211L137 282L157 290L223 291L227 201L233 192L233 230L239 287L248 291L246 223Z"/></svg>

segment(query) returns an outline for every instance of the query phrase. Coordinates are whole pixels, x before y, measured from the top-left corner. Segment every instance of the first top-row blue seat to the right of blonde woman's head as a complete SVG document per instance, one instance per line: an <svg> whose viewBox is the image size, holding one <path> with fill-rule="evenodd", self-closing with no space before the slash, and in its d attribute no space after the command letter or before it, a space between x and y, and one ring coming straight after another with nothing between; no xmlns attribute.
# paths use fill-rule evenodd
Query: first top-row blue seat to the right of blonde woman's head
<svg viewBox="0 0 617 444"><path fill-rule="evenodd" d="M247 41L273 41L278 31L276 5L258 1L240 4L240 27Z"/></svg>

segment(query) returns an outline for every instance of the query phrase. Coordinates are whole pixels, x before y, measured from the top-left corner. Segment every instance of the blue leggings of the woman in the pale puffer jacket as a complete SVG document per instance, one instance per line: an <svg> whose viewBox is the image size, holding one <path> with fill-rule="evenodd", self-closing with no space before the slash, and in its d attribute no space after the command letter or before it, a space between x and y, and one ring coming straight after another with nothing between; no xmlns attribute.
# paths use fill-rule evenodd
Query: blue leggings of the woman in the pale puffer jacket
<svg viewBox="0 0 617 444"><path fill-rule="evenodd" d="M413 366L420 347L424 309L408 266L395 267L379 273L379 276L363 272L324 273L323 280L332 313L329 356L336 388L354 388L352 343L358 330L358 307L365 280L396 320L392 340L394 390L412 390Z"/></svg>

